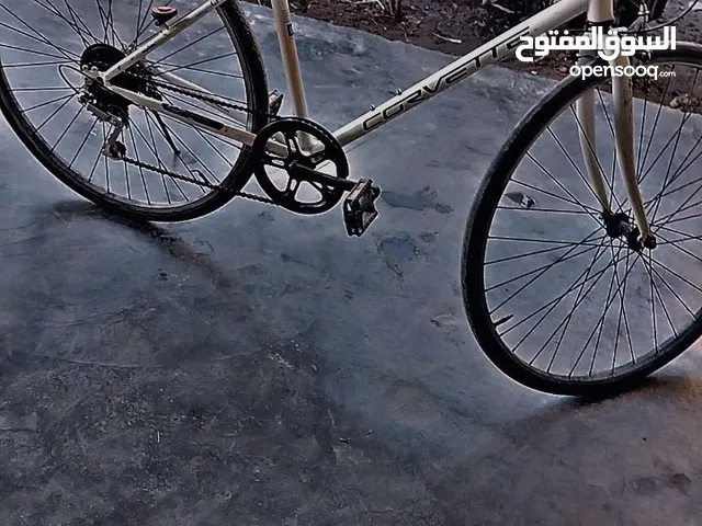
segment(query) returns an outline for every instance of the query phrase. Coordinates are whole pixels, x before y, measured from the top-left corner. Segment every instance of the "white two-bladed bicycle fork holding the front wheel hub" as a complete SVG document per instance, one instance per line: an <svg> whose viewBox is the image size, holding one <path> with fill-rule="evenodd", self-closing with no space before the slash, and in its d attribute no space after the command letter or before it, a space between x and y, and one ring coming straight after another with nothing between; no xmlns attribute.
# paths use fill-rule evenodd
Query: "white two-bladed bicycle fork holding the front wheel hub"
<svg viewBox="0 0 702 526"><path fill-rule="evenodd" d="M580 59L584 65L587 57ZM626 67L629 57L620 56L613 59L611 66ZM602 167L597 158L596 124L595 124L595 91L590 90L576 103L576 112L580 122L579 138L580 148L588 171L592 190L602 207L602 219L608 235L611 237L624 236L631 248L654 249L656 238L650 231L650 225L646 217L644 199L638 187L638 174L636 173L635 147L634 147L634 93L633 82L626 76L612 76L613 99L613 127L616 148L616 163L626 188L629 204L635 219L635 227L629 222L626 213L612 209L612 198L608 190ZM635 228L635 229L634 229Z"/></svg>

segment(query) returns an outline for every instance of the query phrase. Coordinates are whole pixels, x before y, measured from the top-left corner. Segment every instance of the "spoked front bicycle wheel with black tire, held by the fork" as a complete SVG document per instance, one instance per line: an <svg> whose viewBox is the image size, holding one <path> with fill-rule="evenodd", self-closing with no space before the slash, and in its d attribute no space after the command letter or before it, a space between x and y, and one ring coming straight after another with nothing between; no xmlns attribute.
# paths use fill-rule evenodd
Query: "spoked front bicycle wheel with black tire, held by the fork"
<svg viewBox="0 0 702 526"><path fill-rule="evenodd" d="M634 219L608 78L561 82L518 125L475 197L462 260L466 313L490 361L526 387L609 396L702 335L702 46L678 43L645 65L658 66L658 78L634 79L635 163L655 249L625 235ZM576 101L590 90L591 147L615 221L602 217L578 140Z"/></svg>

